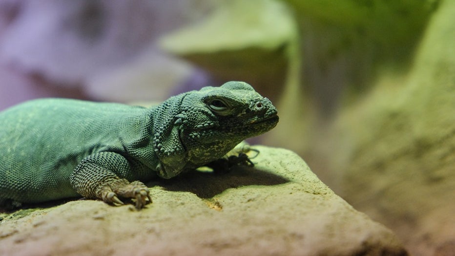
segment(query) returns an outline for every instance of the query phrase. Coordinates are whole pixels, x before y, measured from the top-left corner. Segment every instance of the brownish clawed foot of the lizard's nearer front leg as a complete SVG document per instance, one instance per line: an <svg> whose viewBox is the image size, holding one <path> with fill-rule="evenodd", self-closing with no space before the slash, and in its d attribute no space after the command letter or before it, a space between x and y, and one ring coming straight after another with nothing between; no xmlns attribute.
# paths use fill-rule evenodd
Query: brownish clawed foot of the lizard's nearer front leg
<svg viewBox="0 0 455 256"><path fill-rule="evenodd" d="M138 180L131 183L126 179L111 181L97 191L97 197L106 203L114 205L124 204L119 197L132 198L137 209L144 208L147 204L147 199L149 203L152 202L148 188Z"/></svg>

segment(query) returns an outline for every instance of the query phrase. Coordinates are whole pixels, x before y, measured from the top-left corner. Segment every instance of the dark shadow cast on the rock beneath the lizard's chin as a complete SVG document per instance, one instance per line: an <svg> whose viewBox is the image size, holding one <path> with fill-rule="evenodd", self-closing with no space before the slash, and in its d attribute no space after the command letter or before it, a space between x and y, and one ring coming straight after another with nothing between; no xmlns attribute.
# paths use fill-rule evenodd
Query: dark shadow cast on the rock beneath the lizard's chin
<svg viewBox="0 0 455 256"><path fill-rule="evenodd" d="M257 168L235 167L225 173L190 171L169 180L159 179L147 185L160 186L167 191L192 192L200 198L212 198L231 188L250 185L273 186L289 181Z"/></svg>

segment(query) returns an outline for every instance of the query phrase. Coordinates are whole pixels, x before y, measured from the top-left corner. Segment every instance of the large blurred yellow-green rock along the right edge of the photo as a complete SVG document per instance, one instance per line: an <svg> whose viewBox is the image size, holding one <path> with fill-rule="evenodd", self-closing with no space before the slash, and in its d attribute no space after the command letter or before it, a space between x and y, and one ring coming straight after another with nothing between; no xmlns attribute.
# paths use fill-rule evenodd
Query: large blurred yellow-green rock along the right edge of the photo
<svg viewBox="0 0 455 256"><path fill-rule="evenodd" d="M382 72L316 138L323 180L416 256L455 252L454 12L455 1L441 1L409 73Z"/></svg>

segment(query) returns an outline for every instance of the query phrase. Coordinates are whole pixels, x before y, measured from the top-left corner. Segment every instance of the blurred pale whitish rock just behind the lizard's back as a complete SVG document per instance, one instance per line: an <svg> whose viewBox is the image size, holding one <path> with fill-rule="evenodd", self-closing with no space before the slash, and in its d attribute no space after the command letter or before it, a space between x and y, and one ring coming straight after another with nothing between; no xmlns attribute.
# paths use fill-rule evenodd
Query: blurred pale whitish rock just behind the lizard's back
<svg viewBox="0 0 455 256"><path fill-rule="evenodd" d="M84 89L91 97L103 101L161 102L194 72L190 64L151 49L135 61L87 78Z"/></svg>

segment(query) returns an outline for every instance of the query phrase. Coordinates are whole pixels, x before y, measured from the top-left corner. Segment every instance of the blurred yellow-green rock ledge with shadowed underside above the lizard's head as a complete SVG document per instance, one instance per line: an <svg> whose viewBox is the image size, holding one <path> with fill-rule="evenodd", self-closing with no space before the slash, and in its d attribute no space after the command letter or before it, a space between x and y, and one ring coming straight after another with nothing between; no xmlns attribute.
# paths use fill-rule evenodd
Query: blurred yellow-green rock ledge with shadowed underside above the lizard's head
<svg viewBox="0 0 455 256"><path fill-rule="evenodd" d="M292 12L283 2L233 0L221 1L202 21L163 36L159 46L203 67L219 83L246 81L275 102L283 91L288 55L294 54L289 45L297 37Z"/></svg>

